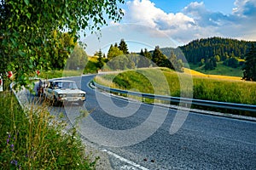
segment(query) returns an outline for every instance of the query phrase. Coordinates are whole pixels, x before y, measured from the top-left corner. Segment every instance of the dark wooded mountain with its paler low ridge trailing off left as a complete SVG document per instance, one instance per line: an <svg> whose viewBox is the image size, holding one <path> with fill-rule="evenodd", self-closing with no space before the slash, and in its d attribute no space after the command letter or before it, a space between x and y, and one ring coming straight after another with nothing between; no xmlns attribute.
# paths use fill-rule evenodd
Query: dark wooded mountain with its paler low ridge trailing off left
<svg viewBox="0 0 256 170"><path fill-rule="evenodd" d="M198 64L201 59L207 60L216 55L219 56L221 61L231 57L243 59L252 43L256 46L256 42L210 37L194 40L178 48L160 48L160 50L167 57L170 56L173 50L177 58L183 59L184 55L189 63Z"/></svg>

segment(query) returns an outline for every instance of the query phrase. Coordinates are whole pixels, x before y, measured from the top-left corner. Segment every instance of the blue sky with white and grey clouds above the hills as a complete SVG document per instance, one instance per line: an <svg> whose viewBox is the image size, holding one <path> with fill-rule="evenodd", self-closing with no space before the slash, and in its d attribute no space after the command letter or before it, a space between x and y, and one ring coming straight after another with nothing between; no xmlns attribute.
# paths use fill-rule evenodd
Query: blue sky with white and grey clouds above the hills
<svg viewBox="0 0 256 170"><path fill-rule="evenodd" d="M206 37L256 41L256 0L126 0L119 8L125 13L121 22L109 20L100 34L84 37L87 54L99 49L107 54L121 39L130 52Z"/></svg>

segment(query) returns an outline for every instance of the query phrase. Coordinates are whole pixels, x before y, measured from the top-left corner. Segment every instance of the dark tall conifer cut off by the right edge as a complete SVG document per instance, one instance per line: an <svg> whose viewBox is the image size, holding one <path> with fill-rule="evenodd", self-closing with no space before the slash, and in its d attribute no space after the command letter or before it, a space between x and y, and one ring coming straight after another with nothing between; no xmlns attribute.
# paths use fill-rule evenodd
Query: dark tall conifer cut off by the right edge
<svg viewBox="0 0 256 170"><path fill-rule="evenodd" d="M253 44L248 53L245 54L245 58L245 63L242 68L242 79L248 81L256 81L256 48Z"/></svg>

